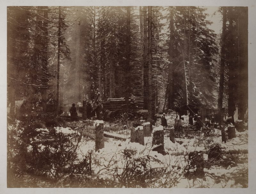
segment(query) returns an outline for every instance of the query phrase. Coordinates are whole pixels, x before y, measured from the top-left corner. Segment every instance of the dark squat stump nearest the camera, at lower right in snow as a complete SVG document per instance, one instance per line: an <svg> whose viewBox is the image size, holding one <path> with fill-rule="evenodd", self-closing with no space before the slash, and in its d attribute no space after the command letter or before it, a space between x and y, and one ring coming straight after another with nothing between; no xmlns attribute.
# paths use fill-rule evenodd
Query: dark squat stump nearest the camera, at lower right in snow
<svg viewBox="0 0 256 194"><path fill-rule="evenodd" d="M185 176L188 179L204 177L204 154L203 151L190 152L188 154L188 171Z"/></svg>

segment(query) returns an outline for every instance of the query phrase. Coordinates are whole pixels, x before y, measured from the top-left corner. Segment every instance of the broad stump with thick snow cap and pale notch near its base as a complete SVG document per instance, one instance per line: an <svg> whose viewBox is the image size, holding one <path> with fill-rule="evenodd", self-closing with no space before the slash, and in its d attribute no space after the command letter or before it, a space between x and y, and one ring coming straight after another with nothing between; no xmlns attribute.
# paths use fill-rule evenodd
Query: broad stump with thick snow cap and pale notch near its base
<svg viewBox="0 0 256 194"><path fill-rule="evenodd" d="M152 151L157 151L159 154L166 155L166 152L164 151L164 127L161 125L153 130L152 147Z"/></svg>

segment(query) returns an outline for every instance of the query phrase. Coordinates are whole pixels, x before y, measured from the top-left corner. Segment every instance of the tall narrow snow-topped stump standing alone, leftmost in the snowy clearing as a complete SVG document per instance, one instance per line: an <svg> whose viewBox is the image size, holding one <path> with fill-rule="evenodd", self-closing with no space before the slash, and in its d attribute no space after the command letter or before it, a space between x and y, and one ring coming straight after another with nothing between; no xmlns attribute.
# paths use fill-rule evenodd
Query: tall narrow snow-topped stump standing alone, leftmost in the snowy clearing
<svg viewBox="0 0 256 194"><path fill-rule="evenodd" d="M104 147L104 123L103 120L95 121L95 152Z"/></svg>

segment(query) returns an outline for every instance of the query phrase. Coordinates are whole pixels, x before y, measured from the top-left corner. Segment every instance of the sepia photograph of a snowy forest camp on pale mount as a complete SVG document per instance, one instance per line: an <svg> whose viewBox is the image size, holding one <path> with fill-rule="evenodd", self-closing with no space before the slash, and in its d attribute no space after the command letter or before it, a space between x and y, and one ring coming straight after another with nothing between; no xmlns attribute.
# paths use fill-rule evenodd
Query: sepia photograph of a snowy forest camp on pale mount
<svg viewBox="0 0 256 194"><path fill-rule="evenodd" d="M6 14L7 188L248 188L248 6Z"/></svg>

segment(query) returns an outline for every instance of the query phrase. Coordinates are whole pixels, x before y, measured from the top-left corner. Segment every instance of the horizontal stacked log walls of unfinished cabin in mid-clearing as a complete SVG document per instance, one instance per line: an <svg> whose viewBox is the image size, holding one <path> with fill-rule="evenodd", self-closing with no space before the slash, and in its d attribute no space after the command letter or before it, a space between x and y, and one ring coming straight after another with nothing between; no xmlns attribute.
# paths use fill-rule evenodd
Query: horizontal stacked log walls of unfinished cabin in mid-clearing
<svg viewBox="0 0 256 194"><path fill-rule="evenodd" d="M122 111L124 109L141 110L143 109L144 97L129 97L128 107L125 103L124 97L121 98L108 98L107 102L103 103L105 110L109 111Z"/></svg>

